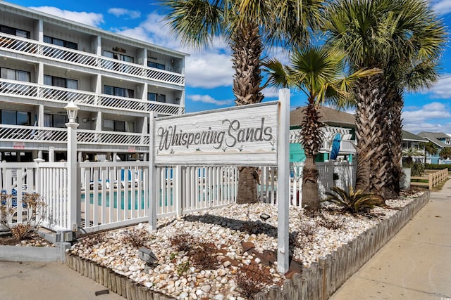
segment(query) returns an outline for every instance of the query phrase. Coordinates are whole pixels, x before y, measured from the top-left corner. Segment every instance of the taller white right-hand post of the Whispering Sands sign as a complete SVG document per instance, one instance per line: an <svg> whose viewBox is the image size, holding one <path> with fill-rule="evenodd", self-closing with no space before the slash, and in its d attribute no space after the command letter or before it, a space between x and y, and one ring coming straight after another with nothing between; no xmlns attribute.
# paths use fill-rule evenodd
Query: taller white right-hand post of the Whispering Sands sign
<svg viewBox="0 0 451 300"><path fill-rule="evenodd" d="M286 273L289 266L290 206L290 90L279 90L278 167L277 167L277 270Z"/></svg>

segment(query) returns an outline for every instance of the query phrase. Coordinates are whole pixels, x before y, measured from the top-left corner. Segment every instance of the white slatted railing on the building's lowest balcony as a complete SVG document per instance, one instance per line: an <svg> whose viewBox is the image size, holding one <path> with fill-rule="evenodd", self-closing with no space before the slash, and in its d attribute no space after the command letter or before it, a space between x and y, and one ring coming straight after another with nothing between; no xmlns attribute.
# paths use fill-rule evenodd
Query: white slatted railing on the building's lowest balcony
<svg viewBox="0 0 451 300"><path fill-rule="evenodd" d="M67 129L16 126L0 124L0 141L33 143L67 143ZM126 145L144 147L149 145L149 134L116 131L78 130L80 145Z"/></svg>

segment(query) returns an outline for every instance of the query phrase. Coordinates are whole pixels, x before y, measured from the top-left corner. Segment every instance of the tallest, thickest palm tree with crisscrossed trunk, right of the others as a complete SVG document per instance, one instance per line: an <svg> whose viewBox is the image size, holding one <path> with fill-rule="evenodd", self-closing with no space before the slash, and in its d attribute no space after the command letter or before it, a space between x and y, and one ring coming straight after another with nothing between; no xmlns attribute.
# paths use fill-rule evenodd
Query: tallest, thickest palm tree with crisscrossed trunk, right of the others
<svg viewBox="0 0 451 300"><path fill-rule="evenodd" d="M402 94L434 80L443 25L424 0L339 0L327 20L330 43L347 51L353 69L383 70L359 80L355 90L356 186L388 196L400 176Z"/></svg>

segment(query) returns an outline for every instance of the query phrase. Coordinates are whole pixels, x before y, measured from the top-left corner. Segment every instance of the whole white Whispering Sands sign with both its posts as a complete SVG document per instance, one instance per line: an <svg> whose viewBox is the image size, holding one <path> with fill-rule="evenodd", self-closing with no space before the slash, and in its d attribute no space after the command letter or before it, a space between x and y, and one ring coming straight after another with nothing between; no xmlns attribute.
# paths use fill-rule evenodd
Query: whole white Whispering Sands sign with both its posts
<svg viewBox="0 0 451 300"><path fill-rule="evenodd" d="M156 228L155 166L278 167L278 263L288 271L290 90L279 100L150 120L149 224ZM177 174L181 168L178 168ZM178 191L180 197L181 191ZM178 207L181 211L183 207Z"/></svg>

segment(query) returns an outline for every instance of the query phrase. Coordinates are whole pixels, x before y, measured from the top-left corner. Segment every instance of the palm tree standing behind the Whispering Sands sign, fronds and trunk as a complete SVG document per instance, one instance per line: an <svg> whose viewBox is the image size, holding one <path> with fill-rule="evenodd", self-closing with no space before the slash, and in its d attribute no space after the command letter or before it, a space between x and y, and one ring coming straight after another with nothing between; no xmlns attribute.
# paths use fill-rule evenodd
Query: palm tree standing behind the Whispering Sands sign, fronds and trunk
<svg viewBox="0 0 451 300"><path fill-rule="evenodd" d="M214 37L225 39L232 51L236 105L259 103L261 55L264 46L296 46L307 41L309 29L321 20L319 0L161 0L165 20L182 43L205 47ZM257 202L254 168L240 171L238 203Z"/></svg>

